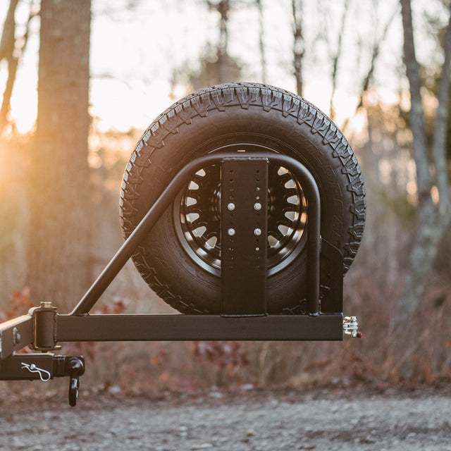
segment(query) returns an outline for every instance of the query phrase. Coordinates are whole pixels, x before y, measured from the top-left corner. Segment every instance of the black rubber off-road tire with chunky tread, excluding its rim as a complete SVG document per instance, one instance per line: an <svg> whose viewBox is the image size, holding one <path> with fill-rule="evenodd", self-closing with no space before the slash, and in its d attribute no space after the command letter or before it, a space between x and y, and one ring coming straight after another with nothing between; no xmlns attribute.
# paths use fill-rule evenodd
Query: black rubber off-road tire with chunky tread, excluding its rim
<svg viewBox="0 0 451 451"><path fill-rule="evenodd" d="M156 118L137 143L123 176L124 237L188 161L224 146L236 149L237 144L290 155L311 171L321 197L321 236L340 249L344 260L342 268L328 268L328 262L321 261L321 283L327 288L328 273L345 274L362 240L366 211L362 173L336 125L302 97L276 87L254 83L209 87ZM193 258L180 232L180 208L179 197L132 259L152 290L178 311L218 314L219 270ZM268 312L303 313L305 296L299 283L306 278L304 240L295 243L290 257L271 271Z"/></svg>

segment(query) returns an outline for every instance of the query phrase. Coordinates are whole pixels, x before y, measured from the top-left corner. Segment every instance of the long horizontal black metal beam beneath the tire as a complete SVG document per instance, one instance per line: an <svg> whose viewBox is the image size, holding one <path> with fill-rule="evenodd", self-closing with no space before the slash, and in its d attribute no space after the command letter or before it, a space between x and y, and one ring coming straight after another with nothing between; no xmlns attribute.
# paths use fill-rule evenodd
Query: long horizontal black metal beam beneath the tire
<svg viewBox="0 0 451 451"><path fill-rule="evenodd" d="M342 340L342 314L57 315L58 342L185 340Z"/></svg>

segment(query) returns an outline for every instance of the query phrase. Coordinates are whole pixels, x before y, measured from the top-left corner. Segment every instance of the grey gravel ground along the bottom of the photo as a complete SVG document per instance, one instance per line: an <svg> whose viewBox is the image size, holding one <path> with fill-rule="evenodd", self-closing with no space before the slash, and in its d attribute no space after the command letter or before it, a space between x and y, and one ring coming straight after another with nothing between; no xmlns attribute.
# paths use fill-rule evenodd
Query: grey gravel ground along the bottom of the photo
<svg viewBox="0 0 451 451"><path fill-rule="evenodd" d="M0 450L451 451L451 397L211 392L192 397L0 400Z"/></svg>

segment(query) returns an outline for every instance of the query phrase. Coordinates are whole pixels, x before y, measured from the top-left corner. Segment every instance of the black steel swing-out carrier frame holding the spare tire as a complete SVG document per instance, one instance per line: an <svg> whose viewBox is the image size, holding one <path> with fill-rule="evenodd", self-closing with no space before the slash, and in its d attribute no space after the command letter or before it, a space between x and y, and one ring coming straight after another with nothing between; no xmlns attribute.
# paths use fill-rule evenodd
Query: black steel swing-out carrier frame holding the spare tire
<svg viewBox="0 0 451 451"><path fill-rule="evenodd" d="M259 235L255 230L258 228L266 236L270 161L291 171L307 198L307 299L304 311L297 314L269 315L266 311L266 245L256 245ZM221 165L221 314L89 314L192 174L211 164ZM229 174L234 175L228 177ZM255 190L263 196L259 198L262 207L259 211L252 209L255 200L249 194ZM227 209L230 202L242 208L236 214L230 213ZM342 254L321 239L320 223L318 186L299 161L273 152L217 152L201 156L175 175L70 314L58 314L49 302L42 302L27 315L0 324L0 380L42 379L42 373L25 365L33 362L33 367L45 369L49 378L70 376L70 385L76 385L74 381L78 382L84 371L82 363L80 369L82 357L74 357L79 359L76 364L70 360L74 358L64 357L69 363L61 364L62 356L54 354L27 354L27 357L16 354L27 345L39 352L53 352L59 349L58 342L71 341L342 340ZM234 230L233 235L228 234L230 229ZM321 253L336 271L328 274L328 292L320 301ZM57 357L59 363L55 364Z"/></svg>

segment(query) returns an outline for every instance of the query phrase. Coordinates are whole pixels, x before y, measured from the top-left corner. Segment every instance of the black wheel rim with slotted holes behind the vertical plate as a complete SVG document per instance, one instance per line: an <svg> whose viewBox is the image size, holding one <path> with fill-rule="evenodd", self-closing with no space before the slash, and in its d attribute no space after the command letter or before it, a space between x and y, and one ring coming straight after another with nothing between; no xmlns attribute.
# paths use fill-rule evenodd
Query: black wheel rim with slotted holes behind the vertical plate
<svg viewBox="0 0 451 451"><path fill-rule="evenodd" d="M220 166L197 171L174 202L178 240L198 266L221 270ZM276 273L299 254L307 226L307 199L290 171L270 163L268 168L268 273Z"/></svg>

